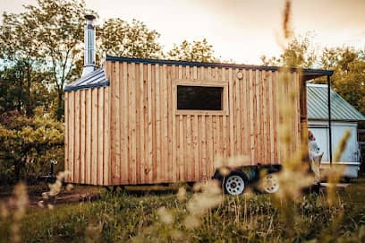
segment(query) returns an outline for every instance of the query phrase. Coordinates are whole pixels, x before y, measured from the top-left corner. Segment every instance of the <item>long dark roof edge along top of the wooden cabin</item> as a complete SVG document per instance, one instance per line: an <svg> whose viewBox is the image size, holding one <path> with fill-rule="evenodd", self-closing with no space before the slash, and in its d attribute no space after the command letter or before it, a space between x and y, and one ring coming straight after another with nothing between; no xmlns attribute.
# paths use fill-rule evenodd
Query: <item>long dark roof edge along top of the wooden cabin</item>
<svg viewBox="0 0 365 243"><path fill-rule="evenodd" d="M143 63L143 64L158 64L158 65L189 65L189 66L210 66L210 67L225 67L225 68L242 68L242 69L258 69L267 71L276 71L279 66L270 65L237 65L237 64L224 64L224 63L203 63L203 62L189 62L189 61L176 61L176 60L163 60L163 59L151 59L151 58L132 58L132 57L117 57L106 56L106 61L113 62L127 62L127 63ZM292 71L298 70L298 68L291 68ZM303 69L304 74L318 74L318 75L332 75L334 71L323 69Z"/></svg>

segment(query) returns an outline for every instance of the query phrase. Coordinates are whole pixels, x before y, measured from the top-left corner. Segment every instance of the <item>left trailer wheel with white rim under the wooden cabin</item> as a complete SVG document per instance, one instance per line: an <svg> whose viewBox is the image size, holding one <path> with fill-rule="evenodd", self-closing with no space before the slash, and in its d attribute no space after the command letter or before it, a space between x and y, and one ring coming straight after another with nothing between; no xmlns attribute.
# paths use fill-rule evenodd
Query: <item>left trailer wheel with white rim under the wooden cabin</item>
<svg viewBox="0 0 365 243"><path fill-rule="evenodd" d="M223 181L225 193L229 195L241 195L247 187L248 179L242 171L232 171Z"/></svg>

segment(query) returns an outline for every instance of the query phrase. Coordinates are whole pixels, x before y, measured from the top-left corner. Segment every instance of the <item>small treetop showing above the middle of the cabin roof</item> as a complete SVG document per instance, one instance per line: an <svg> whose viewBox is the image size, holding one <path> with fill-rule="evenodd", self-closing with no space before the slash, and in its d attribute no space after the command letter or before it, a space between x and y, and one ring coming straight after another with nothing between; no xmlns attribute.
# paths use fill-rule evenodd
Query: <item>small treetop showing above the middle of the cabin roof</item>
<svg viewBox="0 0 365 243"><path fill-rule="evenodd" d="M180 45L174 44L174 48L167 52L167 57L174 60L193 62L218 62L214 56L213 46L208 44L207 39L194 40L192 43L183 40Z"/></svg>

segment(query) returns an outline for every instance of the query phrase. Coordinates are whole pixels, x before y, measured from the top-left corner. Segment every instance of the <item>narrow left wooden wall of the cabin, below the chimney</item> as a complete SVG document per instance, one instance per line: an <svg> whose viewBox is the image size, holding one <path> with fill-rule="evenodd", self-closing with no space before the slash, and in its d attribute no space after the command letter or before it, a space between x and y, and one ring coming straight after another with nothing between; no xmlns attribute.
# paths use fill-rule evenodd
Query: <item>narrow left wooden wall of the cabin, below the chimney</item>
<svg viewBox="0 0 365 243"><path fill-rule="evenodd" d="M110 185L109 87L65 92L67 182Z"/></svg>

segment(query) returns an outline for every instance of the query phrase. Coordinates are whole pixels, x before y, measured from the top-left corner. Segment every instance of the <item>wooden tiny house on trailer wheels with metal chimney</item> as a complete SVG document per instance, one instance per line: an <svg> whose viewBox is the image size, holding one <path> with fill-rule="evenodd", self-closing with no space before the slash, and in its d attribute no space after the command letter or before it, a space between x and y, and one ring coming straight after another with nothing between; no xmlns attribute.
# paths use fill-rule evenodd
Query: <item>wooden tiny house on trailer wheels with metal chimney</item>
<svg viewBox="0 0 365 243"><path fill-rule="evenodd" d="M71 183L201 181L215 175L217 155L224 160L247 155L247 168L260 164L276 171L284 156L278 149L278 100L295 91L293 143L286 151L297 151L307 125L305 82L332 74L293 69L284 84L273 66L115 56L106 56L97 69L93 16L87 18L84 74L64 88L65 170ZM225 190L241 194L251 173L232 173Z"/></svg>

